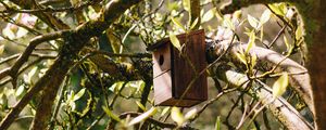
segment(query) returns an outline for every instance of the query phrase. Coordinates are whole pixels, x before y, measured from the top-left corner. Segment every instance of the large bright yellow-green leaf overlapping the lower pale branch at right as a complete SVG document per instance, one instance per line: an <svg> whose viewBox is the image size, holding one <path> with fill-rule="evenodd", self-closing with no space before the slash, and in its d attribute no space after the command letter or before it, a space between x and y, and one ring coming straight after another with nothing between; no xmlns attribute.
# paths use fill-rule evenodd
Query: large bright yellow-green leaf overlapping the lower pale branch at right
<svg viewBox="0 0 326 130"><path fill-rule="evenodd" d="M284 73L273 84L273 98L276 99L280 96L289 84L289 76Z"/></svg>

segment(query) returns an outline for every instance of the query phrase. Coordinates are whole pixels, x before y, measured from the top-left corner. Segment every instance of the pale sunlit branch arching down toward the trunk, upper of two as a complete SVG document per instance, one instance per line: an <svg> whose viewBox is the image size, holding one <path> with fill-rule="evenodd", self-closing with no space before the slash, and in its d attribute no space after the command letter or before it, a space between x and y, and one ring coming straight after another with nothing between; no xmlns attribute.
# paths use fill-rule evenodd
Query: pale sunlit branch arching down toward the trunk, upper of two
<svg viewBox="0 0 326 130"><path fill-rule="evenodd" d="M228 47L228 41L222 41L217 44L216 48L216 54L220 55L221 50L225 50ZM247 44L242 43L235 43L234 47L231 47L229 55L227 55L226 58L238 61L236 53L246 50ZM310 84L310 76L308 74L306 68L298 64L297 62L286 58L284 55L274 52L268 49L254 47L250 50L251 55L256 55L258 64L263 65L264 63L267 63L271 66L276 66L281 72L285 70L288 74L297 74L298 75L290 75L290 83L292 84L293 89L299 93L299 95L303 99L303 101L306 103L309 108L314 113L313 103L312 103L312 86ZM264 65L263 65L264 66Z"/></svg>

